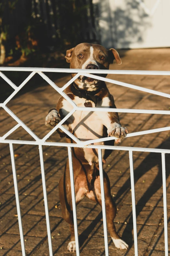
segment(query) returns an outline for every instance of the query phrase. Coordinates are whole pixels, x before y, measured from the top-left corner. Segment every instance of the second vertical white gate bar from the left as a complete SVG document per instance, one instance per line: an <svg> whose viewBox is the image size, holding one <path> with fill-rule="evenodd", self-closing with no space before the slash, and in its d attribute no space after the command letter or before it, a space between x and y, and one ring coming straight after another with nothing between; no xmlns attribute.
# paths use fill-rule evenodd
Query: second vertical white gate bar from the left
<svg viewBox="0 0 170 256"><path fill-rule="evenodd" d="M45 213L46 213L47 234L48 234L48 241L49 241L49 252L50 252L50 256L53 256L42 145L39 145L39 156L40 156L40 164L41 164L41 176L42 176L42 185L43 185L43 194L44 194L44 206L45 206Z"/></svg>

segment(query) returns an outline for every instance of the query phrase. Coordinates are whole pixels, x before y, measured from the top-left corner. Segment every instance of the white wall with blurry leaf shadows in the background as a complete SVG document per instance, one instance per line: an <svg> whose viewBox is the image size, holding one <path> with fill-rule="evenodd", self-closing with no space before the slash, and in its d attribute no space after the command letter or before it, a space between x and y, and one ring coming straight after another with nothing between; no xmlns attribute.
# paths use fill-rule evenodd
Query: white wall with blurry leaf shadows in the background
<svg viewBox="0 0 170 256"><path fill-rule="evenodd" d="M93 0L101 44L170 47L170 0Z"/></svg>

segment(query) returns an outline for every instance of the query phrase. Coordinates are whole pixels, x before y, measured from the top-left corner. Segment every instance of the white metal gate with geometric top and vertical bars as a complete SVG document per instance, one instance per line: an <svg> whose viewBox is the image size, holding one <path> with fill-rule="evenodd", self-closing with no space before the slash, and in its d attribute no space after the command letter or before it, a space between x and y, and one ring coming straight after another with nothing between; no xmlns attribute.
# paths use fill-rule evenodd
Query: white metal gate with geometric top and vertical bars
<svg viewBox="0 0 170 256"><path fill-rule="evenodd" d="M17 87L12 81L10 81L1 71L32 71L32 73L21 83L19 87ZM70 79L62 88L59 88L53 81L50 80L43 72L63 72L63 73L77 73L75 77ZM54 69L54 68L13 68L13 67L0 67L0 76L15 90L5 101L0 104L7 113L14 118L18 122L18 124L10 129L4 136L0 137L0 143L8 143L11 154L11 162L12 162L12 171L13 171L13 179L14 179L14 188L15 188L15 196L17 203L17 213L18 213L18 222L20 229L20 237L21 237L21 248L22 255L25 256L25 246L24 246L24 237L22 231L22 219L21 219L21 209L20 209L20 200L19 200L19 191L18 191L18 183L17 183L17 174L16 174L16 166L15 166L15 158L14 158L14 150L13 144L30 144L30 145L39 145L39 155L40 155L40 164L41 164L41 174L42 174L42 185L43 185L43 193L44 193L44 205L45 205L45 213L46 213L46 222L47 222L47 233L48 233L48 241L49 241L49 251L50 256L52 253L52 242L51 242L51 232L50 232L50 219L49 219L49 211L48 211L48 200L47 200L47 191L46 191L46 181L45 181L45 170L44 170L44 160L43 160L43 145L48 146L66 146L68 148L68 158L69 158L69 167L70 167L70 179L71 179L71 193L72 193L72 204L73 204L73 218L74 218L74 229L75 229L75 240L76 240L76 253L77 256L79 253L79 243L78 243L78 226L77 226L77 213L76 213L76 200L75 200L75 190L74 190L74 174L73 174L73 164L72 164L72 147L87 147L87 148L95 148L98 150L98 158L99 158L99 172L100 172L100 180L101 180L101 196L102 196L102 211L103 211L103 225L104 225L104 239L105 239L105 254L109 255L108 252L108 240L107 240L107 226L106 226L106 209L105 209L105 194L104 194L104 180L103 180L103 164L102 164L102 149L114 149L114 150L126 150L129 151L129 161L130 161L130 175L131 175L131 190L132 190L132 209L133 209L133 225L134 225L134 244L135 244L135 256L138 255L138 247L137 247L137 229L136 229L136 211L135 211L135 185L134 185L134 170L133 170L133 151L142 151L142 152L156 152L162 154L162 173L163 173L163 208L164 208L164 236L165 236L165 256L168 256L168 232L167 232L167 207L166 207L166 173L165 173L165 154L170 153L169 149L157 149L157 148L139 148L139 147L123 147L123 146L106 146L106 145L91 145L94 142L102 142L108 140L114 140L115 137L107 137L95 140L88 140L85 142L81 142L76 138L72 133L70 133L66 128L62 126L65 120L68 119L76 110L87 111L86 108L77 107L76 104L66 95L64 94L64 89L67 88L77 77L80 75L85 75L92 78L97 78L99 80L114 83L117 85L129 87L135 90L160 95L163 97L170 98L170 94L150 90L147 88L139 87L132 84L127 84L124 82L116 81L113 79L95 76L95 74L129 74L129 75L168 75L170 76L169 71L126 71L126 70L91 70L92 74L87 74L86 69ZM64 119L57 124L43 139L39 139L35 133L30 130L11 110L9 110L6 104L17 94L21 88L30 80L31 77L38 73L41 77L43 77L58 93L60 93L66 100L70 102L73 106L73 110L68 113ZM94 75L93 75L94 74ZM104 111L104 112L122 112L122 113L148 113L148 114L169 114L170 111L163 110L136 110L136 109L110 109L110 108L88 108L88 111ZM19 127L24 128L34 139L35 141L21 141L21 140L6 140L7 136L10 135L13 131L15 131ZM50 135L57 129L61 128L70 138L72 138L77 144L72 143L58 143L58 142L46 142L46 140L50 137ZM146 131L139 131L134 133L127 134L126 137L132 137L137 135L144 135L154 132L167 131L170 130L170 127L151 129Z"/></svg>

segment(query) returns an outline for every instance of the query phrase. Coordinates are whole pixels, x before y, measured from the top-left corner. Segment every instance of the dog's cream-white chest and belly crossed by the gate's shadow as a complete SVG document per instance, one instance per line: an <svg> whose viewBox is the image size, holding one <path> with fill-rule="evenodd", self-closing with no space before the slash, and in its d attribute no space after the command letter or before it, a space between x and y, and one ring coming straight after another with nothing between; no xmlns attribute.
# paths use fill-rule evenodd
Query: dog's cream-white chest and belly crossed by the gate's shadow
<svg viewBox="0 0 170 256"><path fill-rule="evenodd" d="M75 97L74 102L78 107L84 107L85 99ZM92 107L95 107L94 103L92 101L90 102L92 103ZM97 107L100 108L106 108L108 106L109 98L105 98L97 104ZM64 100L62 107L63 114L68 114L68 112L70 112L72 109L72 105L68 101ZM106 118L106 116L107 112L88 111L88 108L86 108L85 111L75 111L73 115L67 119L67 121L73 131L73 134L80 141L87 141L103 137L103 120ZM84 148L84 157L90 165L92 165L92 162L98 162L98 154L96 150L92 148Z"/></svg>

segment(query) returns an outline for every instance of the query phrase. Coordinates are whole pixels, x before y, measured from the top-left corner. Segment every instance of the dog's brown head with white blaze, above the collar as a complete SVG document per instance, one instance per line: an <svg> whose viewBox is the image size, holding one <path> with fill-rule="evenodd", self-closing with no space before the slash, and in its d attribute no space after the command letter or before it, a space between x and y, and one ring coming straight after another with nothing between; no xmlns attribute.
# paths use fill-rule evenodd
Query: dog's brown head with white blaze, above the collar
<svg viewBox="0 0 170 256"><path fill-rule="evenodd" d="M111 48L106 50L100 44L80 43L76 47L66 51L65 59L70 63L70 68L79 69L109 69L109 65L116 60L117 64L121 64L118 52ZM88 71L87 71L88 72ZM90 73L90 70L89 72ZM76 74L72 74L74 77ZM96 74L106 77L105 74ZM75 80L77 86L84 90L97 90L100 86L100 80L80 76Z"/></svg>

